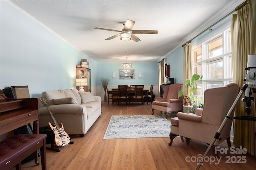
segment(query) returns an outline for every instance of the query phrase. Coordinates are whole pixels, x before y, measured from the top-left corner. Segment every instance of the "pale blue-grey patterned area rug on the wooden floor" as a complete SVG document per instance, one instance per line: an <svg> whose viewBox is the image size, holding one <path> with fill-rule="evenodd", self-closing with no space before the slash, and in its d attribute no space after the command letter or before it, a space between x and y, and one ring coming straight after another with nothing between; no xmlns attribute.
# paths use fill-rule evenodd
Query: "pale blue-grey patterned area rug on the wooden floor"
<svg viewBox="0 0 256 170"><path fill-rule="evenodd" d="M170 125L161 115L112 115L103 139L169 137Z"/></svg>

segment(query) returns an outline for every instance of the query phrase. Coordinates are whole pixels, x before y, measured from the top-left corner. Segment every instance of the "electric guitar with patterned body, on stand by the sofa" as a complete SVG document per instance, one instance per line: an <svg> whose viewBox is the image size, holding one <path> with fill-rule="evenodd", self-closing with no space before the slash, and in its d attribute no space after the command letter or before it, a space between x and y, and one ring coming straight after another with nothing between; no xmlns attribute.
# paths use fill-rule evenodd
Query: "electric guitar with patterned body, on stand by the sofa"
<svg viewBox="0 0 256 170"><path fill-rule="evenodd" d="M50 122L48 124L48 127L52 130L52 132L54 133L54 142L55 142L55 145L57 147L59 146L66 146L70 143L70 137L68 136L68 134L64 131L64 127L63 127L63 124L60 123L60 126L58 125L50 107L48 106L46 100L44 100L44 98L40 97L40 100L42 102L42 104L44 104L50 115L52 116L52 120L54 121L54 125L52 125Z"/></svg>

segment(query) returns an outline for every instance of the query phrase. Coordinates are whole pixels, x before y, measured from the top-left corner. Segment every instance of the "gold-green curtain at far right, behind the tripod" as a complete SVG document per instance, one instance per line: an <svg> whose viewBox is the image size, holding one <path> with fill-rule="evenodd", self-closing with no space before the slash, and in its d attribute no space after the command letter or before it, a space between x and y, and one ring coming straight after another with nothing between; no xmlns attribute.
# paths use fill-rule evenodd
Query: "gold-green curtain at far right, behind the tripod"
<svg viewBox="0 0 256 170"><path fill-rule="evenodd" d="M246 2L245 2L246 4ZM233 81L240 87L245 83L248 55L256 54L256 1L247 1L247 4L237 10L231 19L231 45ZM240 101L236 107L235 116L248 116L245 112L245 102ZM255 110L252 107L252 115ZM234 145L246 148L248 153L256 155L255 123L253 121L234 121Z"/></svg>

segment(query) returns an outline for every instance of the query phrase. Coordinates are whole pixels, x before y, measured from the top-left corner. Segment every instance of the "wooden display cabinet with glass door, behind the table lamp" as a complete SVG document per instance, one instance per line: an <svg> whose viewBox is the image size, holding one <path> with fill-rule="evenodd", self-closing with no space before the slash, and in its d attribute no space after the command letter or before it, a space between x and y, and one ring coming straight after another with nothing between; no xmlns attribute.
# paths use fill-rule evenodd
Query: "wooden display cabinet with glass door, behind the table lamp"
<svg viewBox="0 0 256 170"><path fill-rule="evenodd" d="M87 86L84 86L85 92L91 92L91 70L89 68L76 68L76 78L86 78ZM76 89L79 90L79 86L76 86Z"/></svg>

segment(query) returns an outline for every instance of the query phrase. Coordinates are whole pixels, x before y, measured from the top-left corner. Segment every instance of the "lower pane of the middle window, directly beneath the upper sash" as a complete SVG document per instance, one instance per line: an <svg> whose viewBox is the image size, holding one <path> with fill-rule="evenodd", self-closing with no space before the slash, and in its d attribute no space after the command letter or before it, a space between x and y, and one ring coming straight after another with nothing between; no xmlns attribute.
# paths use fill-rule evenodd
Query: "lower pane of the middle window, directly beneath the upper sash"
<svg viewBox="0 0 256 170"><path fill-rule="evenodd" d="M222 78L223 77L223 62L207 63L207 78Z"/></svg>

